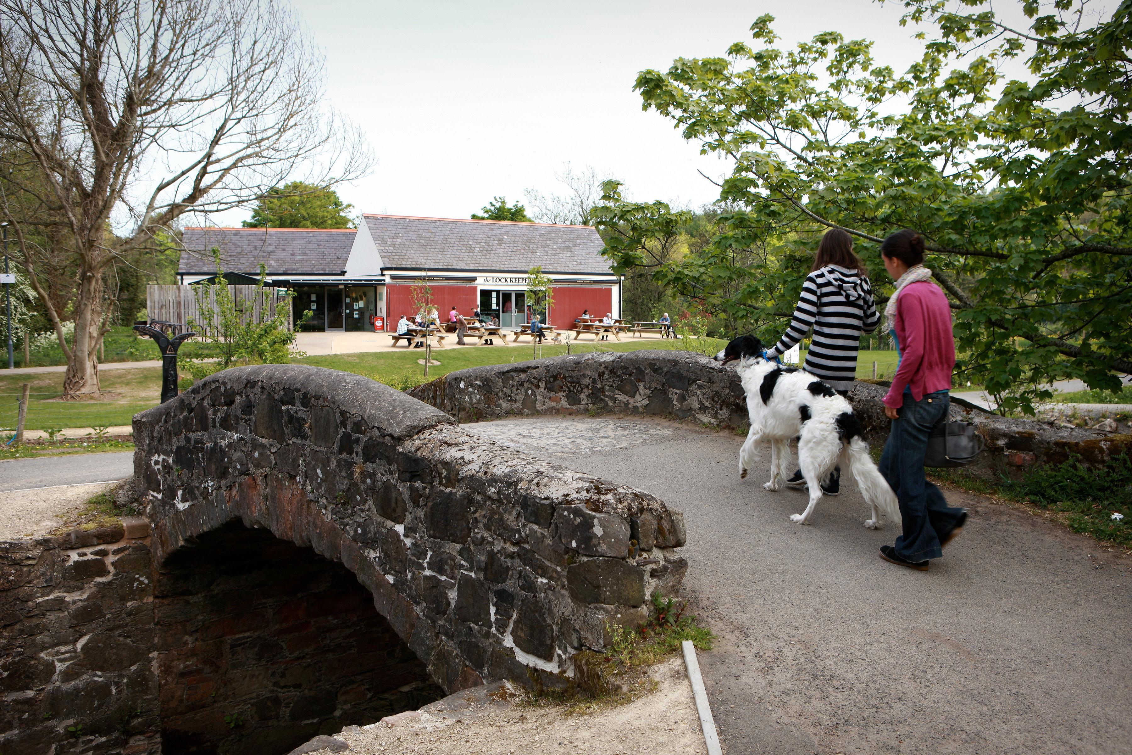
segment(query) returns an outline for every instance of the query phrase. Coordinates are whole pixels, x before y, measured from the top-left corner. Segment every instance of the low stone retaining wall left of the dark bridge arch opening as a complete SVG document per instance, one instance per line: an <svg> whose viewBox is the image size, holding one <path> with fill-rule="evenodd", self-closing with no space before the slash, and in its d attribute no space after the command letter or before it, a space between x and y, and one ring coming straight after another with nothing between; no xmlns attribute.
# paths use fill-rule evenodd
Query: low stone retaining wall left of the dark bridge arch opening
<svg viewBox="0 0 1132 755"><path fill-rule="evenodd" d="M147 535L0 542L0 753L161 752Z"/></svg>

